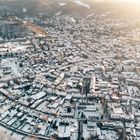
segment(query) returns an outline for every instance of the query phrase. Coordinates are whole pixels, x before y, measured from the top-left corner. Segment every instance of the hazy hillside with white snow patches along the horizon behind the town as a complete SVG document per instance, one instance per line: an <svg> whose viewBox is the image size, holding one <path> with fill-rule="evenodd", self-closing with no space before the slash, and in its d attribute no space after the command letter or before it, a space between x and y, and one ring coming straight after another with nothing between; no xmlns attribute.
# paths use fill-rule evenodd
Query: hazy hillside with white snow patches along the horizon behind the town
<svg viewBox="0 0 140 140"><path fill-rule="evenodd" d="M27 10L26 14L33 16L38 15L38 13L84 16L97 11L104 12L110 10L117 11L116 13L118 13L118 15L122 15L124 14L124 9L126 11L130 11L131 9L132 11L137 8L136 5L135 8L132 8L132 6L128 4L122 6L121 4L114 4L114 2L112 3L110 1L118 0L0 0L0 6L6 5L9 6L10 9L15 9L18 16L25 14L25 12L23 14L23 9Z"/></svg>

